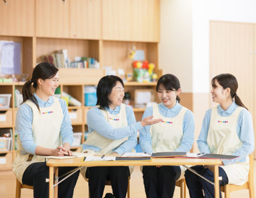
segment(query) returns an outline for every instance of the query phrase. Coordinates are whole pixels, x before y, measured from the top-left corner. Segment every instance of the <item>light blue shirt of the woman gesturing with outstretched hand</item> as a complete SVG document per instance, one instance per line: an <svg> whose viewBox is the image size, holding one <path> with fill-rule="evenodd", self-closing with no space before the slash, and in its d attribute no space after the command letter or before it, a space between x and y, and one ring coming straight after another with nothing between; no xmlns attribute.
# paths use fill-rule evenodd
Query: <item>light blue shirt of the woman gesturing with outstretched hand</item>
<svg viewBox="0 0 256 198"><path fill-rule="evenodd" d="M113 128L113 126L107 122L101 110L96 106L87 112L87 126L89 133L95 131L98 134L101 134L101 136L111 140L119 140L129 137L123 144L113 149L113 152L117 152L119 155L125 152L130 152L131 149L135 148L137 145L137 131L142 128L141 122L136 122L131 106L126 105L125 109L128 126L123 128ZM117 106L115 110L111 110L111 108L106 108L106 110L109 114L119 114L121 106ZM91 149L97 152L101 150L101 148L87 145L86 142L83 144L83 150L84 149Z"/></svg>

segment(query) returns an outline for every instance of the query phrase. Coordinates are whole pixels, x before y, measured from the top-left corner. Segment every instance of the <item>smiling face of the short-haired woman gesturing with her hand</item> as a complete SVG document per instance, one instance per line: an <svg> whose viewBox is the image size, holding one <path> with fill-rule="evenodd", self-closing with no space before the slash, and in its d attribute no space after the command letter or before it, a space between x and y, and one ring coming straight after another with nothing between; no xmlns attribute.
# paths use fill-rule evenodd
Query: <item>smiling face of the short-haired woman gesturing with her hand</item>
<svg viewBox="0 0 256 198"><path fill-rule="evenodd" d="M125 89L121 82L117 81L117 84L112 88L111 93L109 94L109 108L115 109L117 106L121 105L123 102L123 97L125 96Z"/></svg>

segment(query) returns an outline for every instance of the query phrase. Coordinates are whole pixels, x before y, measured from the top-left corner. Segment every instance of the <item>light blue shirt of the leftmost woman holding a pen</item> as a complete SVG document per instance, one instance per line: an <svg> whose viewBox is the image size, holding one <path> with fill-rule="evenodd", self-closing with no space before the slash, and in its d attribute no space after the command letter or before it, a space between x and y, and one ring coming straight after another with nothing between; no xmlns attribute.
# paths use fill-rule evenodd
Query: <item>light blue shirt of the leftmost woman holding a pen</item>
<svg viewBox="0 0 256 198"><path fill-rule="evenodd" d="M54 103L53 96L50 96L47 102L41 100L41 98L39 98L35 93L33 94L33 96L37 98L39 107L50 107ZM63 121L60 131L61 141L63 144L69 143L71 145L73 143L73 128L71 126L71 120L67 111L67 104L62 99L59 99L59 103L61 104L61 108L63 110ZM21 141L21 146L23 147L23 149L25 149L27 153L35 155L35 148L37 148L37 144L35 144L33 140L32 122L33 111L31 107L25 103L21 104L19 110L17 111L15 132L19 134L19 140Z"/></svg>

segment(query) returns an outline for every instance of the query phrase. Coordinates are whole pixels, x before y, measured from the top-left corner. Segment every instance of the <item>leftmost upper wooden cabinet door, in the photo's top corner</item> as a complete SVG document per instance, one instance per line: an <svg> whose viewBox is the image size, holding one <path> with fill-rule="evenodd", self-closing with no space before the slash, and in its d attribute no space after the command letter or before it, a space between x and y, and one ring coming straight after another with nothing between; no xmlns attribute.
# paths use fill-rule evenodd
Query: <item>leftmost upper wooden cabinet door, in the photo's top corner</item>
<svg viewBox="0 0 256 198"><path fill-rule="evenodd" d="M0 2L0 35L30 36L35 33L35 0Z"/></svg>

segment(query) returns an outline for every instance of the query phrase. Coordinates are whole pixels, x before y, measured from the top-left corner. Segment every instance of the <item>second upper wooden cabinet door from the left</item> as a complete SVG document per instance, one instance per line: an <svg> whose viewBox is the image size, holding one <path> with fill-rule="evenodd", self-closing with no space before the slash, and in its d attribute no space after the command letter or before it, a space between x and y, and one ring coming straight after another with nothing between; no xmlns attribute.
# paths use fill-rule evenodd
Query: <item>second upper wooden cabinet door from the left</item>
<svg viewBox="0 0 256 198"><path fill-rule="evenodd" d="M37 37L69 37L69 1L37 0Z"/></svg>

